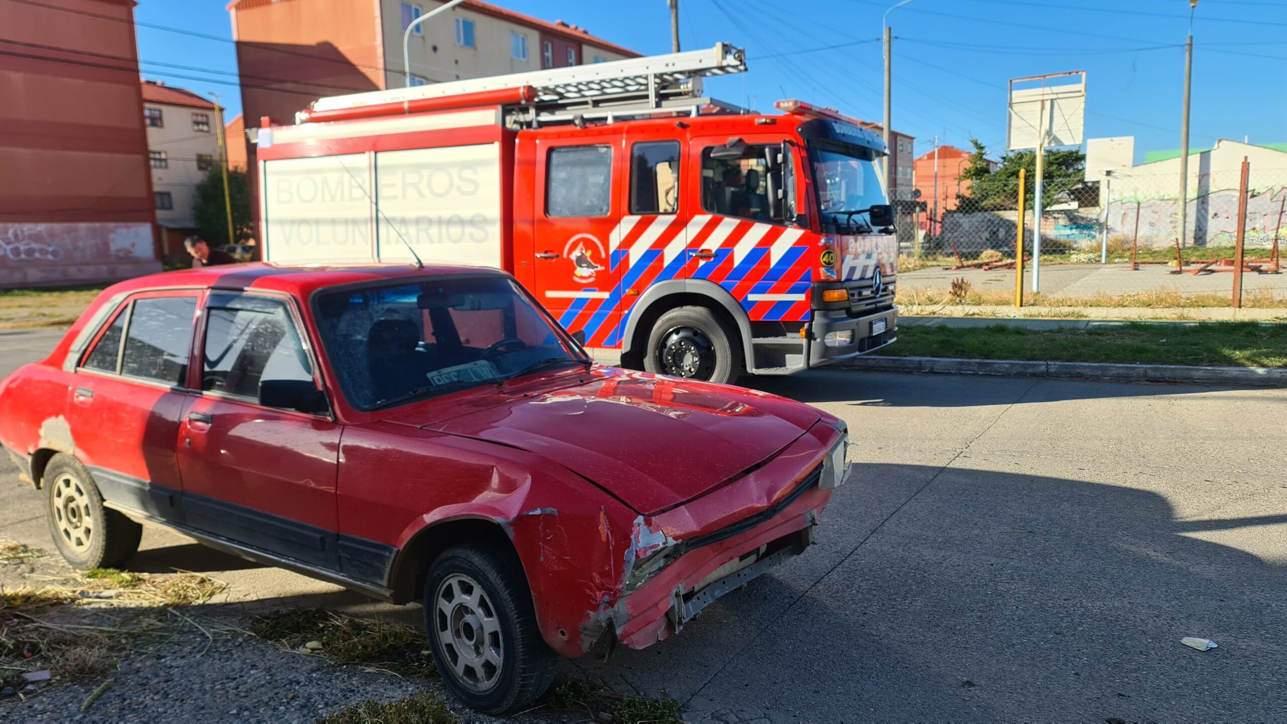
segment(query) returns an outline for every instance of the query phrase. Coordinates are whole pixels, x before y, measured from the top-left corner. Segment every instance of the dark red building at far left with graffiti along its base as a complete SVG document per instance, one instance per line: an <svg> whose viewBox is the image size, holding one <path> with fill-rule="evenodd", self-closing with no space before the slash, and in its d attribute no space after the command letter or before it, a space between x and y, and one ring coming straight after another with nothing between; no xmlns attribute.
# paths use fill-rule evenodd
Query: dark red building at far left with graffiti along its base
<svg viewBox="0 0 1287 724"><path fill-rule="evenodd" d="M161 269L134 5L0 3L0 287Z"/></svg>

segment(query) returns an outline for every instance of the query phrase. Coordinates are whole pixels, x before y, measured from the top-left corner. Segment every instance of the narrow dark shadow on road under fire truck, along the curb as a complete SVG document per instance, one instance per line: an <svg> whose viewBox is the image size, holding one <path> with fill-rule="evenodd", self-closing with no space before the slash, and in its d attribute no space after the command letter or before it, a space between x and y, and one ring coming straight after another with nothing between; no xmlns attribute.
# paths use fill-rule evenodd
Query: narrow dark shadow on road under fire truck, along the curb
<svg viewBox="0 0 1287 724"><path fill-rule="evenodd" d="M852 406L967 408L1055 403L1111 397L1156 397L1224 392L1228 387L1085 382L1015 377L972 377L961 385L954 374L905 374L855 369L816 369L790 377L743 377L740 385L802 403L840 403Z"/></svg>

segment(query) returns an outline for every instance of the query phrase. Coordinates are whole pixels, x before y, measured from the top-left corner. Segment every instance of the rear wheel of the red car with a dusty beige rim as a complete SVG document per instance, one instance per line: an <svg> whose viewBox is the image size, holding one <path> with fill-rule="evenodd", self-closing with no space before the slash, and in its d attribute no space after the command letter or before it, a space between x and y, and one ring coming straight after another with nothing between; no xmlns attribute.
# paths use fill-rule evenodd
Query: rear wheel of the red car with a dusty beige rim
<svg viewBox="0 0 1287 724"><path fill-rule="evenodd" d="M80 460L54 455L41 480L49 535L71 567L115 568L138 553L143 526L103 505L103 494Z"/></svg>

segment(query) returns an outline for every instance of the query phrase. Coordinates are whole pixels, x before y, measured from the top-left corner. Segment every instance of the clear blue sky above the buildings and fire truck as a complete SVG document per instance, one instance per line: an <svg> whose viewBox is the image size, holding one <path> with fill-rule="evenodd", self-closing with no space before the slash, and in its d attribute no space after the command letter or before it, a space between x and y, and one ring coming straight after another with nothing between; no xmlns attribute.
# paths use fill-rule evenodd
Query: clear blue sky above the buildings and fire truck
<svg viewBox="0 0 1287 724"><path fill-rule="evenodd" d="M641 53L671 49L665 0L492 1ZM771 111L801 98L879 121L880 17L894 1L680 0L681 42L746 49L748 73L707 86L723 100ZM220 93L233 114L241 102L224 6L140 0L135 18L144 77ZM1084 69L1086 138L1134 135L1136 157L1179 148L1188 10L1188 0L912 0L889 15L893 126L916 136L918 153L937 134L963 148L978 136L1000 156L1006 81ZM1190 145L1287 141L1287 0L1201 0L1194 18Z"/></svg>

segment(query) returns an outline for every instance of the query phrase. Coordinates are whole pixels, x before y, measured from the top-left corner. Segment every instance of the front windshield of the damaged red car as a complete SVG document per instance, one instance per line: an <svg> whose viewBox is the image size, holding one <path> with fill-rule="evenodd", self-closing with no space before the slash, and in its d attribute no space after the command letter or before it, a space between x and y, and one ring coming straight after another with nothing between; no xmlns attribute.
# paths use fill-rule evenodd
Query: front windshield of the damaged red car
<svg viewBox="0 0 1287 724"><path fill-rule="evenodd" d="M584 363L502 276L322 293L314 309L340 386L362 410Z"/></svg>

